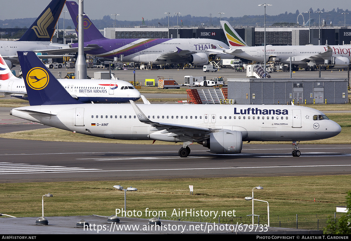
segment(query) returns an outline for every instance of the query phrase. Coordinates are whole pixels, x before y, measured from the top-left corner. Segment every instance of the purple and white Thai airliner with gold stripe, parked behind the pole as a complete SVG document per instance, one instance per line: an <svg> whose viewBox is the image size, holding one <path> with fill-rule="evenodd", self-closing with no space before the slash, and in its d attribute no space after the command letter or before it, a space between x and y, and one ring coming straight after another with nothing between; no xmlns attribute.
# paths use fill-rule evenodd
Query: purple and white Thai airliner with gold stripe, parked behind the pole
<svg viewBox="0 0 351 241"><path fill-rule="evenodd" d="M77 27L78 34L78 4L67 1L69 14ZM229 48L221 41L213 39L107 39L90 19L84 16L84 46L100 46L85 53L125 62L152 62L152 64L191 63L204 65L208 63L208 56L215 54L221 58L234 58L230 54L214 52L218 45ZM72 44L78 47L78 44Z"/></svg>

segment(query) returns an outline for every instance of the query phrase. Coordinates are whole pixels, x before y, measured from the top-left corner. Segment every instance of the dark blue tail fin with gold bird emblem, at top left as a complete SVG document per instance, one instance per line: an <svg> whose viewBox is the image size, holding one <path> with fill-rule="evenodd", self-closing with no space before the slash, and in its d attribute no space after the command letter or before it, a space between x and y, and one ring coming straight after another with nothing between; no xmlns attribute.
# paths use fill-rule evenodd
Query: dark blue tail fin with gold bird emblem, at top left
<svg viewBox="0 0 351 241"><path fill-rule="evenodd" d="M66 0L52 0L19 41L51 41Z"/></svg>

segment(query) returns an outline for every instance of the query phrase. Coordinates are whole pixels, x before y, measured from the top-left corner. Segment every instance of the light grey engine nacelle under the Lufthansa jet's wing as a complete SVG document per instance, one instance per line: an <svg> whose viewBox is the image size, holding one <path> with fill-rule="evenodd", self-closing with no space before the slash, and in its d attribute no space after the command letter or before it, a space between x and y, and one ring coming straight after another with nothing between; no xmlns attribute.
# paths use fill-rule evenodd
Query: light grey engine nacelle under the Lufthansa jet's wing
<svg viewBox="0 0 351 241"><path fill-rule="evenodd" d="M243 133L230 130L219 131L211 133L210 138L199 144L218 154L238 154L243 148Z"/></svg>

